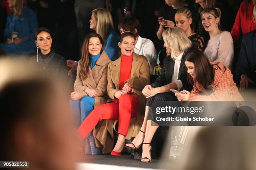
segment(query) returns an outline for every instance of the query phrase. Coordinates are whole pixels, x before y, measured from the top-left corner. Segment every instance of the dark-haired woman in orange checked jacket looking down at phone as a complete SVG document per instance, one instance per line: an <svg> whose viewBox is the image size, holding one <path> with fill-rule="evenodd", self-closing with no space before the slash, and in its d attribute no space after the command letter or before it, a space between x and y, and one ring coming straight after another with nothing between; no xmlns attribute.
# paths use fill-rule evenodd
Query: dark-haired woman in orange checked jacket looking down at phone
<svg viewBox="0 0 256 170"><path fill-rule="evenodd" d="M193 89L176 92L179 101L243 101L231 71L220 62L210 62L204 52L190 52L185 65Z"/></svg>

